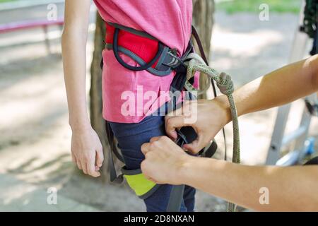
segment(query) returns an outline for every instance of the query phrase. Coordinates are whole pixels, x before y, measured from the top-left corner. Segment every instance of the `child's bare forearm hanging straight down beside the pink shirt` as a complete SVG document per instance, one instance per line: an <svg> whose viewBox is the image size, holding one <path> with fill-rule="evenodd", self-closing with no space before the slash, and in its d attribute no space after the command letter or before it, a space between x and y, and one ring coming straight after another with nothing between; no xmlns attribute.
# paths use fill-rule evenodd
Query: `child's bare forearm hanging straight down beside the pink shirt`
<svg viewBox="0 0 318 226"><path fill-rule="evenodd" d="M64 79L72 128L89 124L86 104L86 33L64 30L62 36Z"/></svg>

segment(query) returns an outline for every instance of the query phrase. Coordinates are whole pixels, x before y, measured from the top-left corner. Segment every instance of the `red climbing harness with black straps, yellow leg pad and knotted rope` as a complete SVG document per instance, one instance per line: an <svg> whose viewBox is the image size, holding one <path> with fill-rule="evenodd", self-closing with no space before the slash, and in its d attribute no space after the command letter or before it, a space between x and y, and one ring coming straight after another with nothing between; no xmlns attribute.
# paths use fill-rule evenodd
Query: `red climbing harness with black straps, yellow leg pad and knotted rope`
<svg viewBox="0 0 318 226"><path fill-rule="evenodd" d="M106 24L106 40L105 47L112 49L114 57L117 59L119 64L124 66L126 69L131 71L143 71L146 70L152 73L154 76L167 76L172 71L175 71L175 76L170 85L171 100L167 102L169 107L165 107L163 111L165 114L174 111L175 109L182 106L182 102L177 104L179 95L173 94L180 93L182 90L189 91L189 99L194 100L196 95L194 93L200 93L202 90L194 88L194 74L196 71L206 74L210 79L213 86L213 92L216 95L216 89L214 82L220 89L220 92L228 97L230 103L230 111L232 116L233 124L233 153L232 162L240 163L240 138L239 138L239 127L237 121L237 110L235 102L232 97L234 86L230 76L226 73L218 73L216 70L208 66L203 47L199 40L199 35L192 27L192 35L198 44L201 57L194 53L194 47L192 40L189 41L188 47L182 56L178 56L176 49L170 49L165 44L157 40L152 35L133 28L127 28L123 25L116 23L105 23ZM120 54L125 54L131 59L134 59L140 66L131 66L120 57ZM102 61L103 62L103 61ZM102 63L101 63L102 66ZM161 111L161 107L159 111ZM155 184L144 177L141 169L126 169L122 167L122 174L117 176L116 169L114 167L114 159L112 153L124 163L124 158L117 150L114 141L114 134L110 128L110 124L106 121L107 139L110 143L110 151L108 152L108 164L110 167L110 180L111 182L121 183L123 179L129 184L137 196L140 198L148 198L153 194L159 187L160 184ZM184 126L177 131L177 145L182 147L185 143L192 143L196 139L196 132L191 126ZM215 141L212 141L210 145L202 149L199 155L204 157L212 157L216 152L217 145ZM177 212L180 209L182 203L182 196L184 191L184 185L172 186L170 193L170 199L167 205L167 211ZM235 205L228 203L228 211L235 211Z"/></svg>

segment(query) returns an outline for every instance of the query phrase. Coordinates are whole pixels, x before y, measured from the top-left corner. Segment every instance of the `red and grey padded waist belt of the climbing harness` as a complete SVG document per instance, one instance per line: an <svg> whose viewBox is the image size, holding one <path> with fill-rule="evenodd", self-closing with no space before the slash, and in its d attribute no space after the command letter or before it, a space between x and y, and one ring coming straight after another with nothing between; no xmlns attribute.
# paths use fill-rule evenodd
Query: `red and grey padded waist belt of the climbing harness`
<svg viewBox="0 0 318 226"><path fill-rule="evenodd" d="M172 70L183 64L184 58L193 52L190 41L187 50L179 57L177 49L170 49L165 44L146 32L134 30L115 23L106 23L105 45L112 49L122 66L132 71L147 70L155 76L167 76ZM126 64L119 52L134 59L139 67Z"/></svg>

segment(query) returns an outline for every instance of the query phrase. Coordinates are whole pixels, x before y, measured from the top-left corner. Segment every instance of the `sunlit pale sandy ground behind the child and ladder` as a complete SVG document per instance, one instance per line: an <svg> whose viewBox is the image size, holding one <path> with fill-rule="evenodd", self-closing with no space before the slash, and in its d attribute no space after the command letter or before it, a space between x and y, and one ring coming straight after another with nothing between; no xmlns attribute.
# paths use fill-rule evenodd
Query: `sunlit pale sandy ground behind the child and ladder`
<svg viewBox="0 0 318 226"><path fill-rule="evenodd" d="M297 23L298 16L293 14L271 13L269 21L260 21L257 14L218 12L211 40L211 65L230 73L236 87L277 69L288 63ZM52 30L50 35L58 36L59 30ZM43 189L55 186L61 196L98 210L144 210L142 201L126 185L95 182L71 163L60 41L52 40L54 53L47 54L42 37L41 30L0 36L0 174ZM90 32L87 89L92 40ZM293 105L288 131L298 126L302 109L302 101ZM270 109L241 118L242 162L264 164L275 117L276 109ZM312 136L317 136L317 128L314 119ZM230 126L226 131L230 150ZM220 150L216 157L222 157L222 139L218 136L217 140ZM225 202L198 191L196 210L222 211Z"/></svg>

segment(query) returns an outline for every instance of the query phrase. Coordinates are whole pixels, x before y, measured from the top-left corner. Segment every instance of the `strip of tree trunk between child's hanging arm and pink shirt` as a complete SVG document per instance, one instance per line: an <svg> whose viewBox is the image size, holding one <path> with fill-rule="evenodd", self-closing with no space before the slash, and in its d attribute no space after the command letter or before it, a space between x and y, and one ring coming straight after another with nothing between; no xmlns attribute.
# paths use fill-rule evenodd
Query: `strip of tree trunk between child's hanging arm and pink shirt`
<svg viewBox="0 0 318 226"><path fill-rule="evenodd" d="M102 181L108 181L107 151L108 143L105 130L105 120L102 118L102 70L100 61L102 60L102 49L104 49L105 25L99 13L96 16L96 30L94 40L93 61L90 68L90 122L100 137L104 149L105 161L102 165Z"/></svg>

